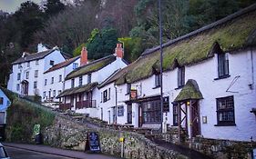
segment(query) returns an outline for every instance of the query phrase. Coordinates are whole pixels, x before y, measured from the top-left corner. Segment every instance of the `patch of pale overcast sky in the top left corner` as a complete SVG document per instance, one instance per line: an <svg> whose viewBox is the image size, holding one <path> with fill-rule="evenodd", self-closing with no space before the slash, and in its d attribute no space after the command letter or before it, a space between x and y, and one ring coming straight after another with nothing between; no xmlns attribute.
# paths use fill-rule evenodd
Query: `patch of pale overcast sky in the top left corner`
<svg viewBox="0 0 256 159"><path fill-rule="evenodd" d="M4 12L15 12L21 3L26 2L27 0L0 0L0 10ZM31 0L39 4L41 0Z"/></svg>

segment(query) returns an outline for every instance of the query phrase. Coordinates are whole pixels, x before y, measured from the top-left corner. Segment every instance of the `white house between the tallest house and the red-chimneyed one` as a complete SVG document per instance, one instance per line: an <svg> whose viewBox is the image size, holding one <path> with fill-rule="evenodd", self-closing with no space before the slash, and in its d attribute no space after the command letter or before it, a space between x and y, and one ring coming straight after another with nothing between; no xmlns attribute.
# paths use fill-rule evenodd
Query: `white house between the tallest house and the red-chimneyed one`
<svg viewBox="0 0 256 159"><path fill-rule="evenodd" d="M60 94L65 87L65 77L80 65L80 56L70 58L65 62L54 65L44 73L44 87L42 101L58 102L56 96Z"/></svg>

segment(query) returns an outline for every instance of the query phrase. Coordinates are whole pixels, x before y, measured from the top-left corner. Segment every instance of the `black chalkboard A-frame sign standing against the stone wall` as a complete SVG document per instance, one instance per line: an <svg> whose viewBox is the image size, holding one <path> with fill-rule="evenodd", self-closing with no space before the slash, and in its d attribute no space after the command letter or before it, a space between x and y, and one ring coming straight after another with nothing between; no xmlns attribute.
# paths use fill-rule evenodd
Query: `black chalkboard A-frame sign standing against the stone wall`
<svg viewBox="0 0 256 159"><path fill-rule="evenodd" d="M88 133L87 134L87 144L86 144L86 152L88 153L100 153L100 145L99 145L99 137L98 134Z"/></svg>

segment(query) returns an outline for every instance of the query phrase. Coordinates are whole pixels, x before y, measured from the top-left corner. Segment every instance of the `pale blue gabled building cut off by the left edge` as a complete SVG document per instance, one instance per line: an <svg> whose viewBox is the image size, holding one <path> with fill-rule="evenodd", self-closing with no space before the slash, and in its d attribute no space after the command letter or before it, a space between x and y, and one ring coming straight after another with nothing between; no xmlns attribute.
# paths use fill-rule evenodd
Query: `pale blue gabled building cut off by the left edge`
<svg viewBox="0 0 256 159"><path fill-rule="evenodd" d="M10 104L10 99L0 88L0 124L6 124L6 110Z"/></svg>

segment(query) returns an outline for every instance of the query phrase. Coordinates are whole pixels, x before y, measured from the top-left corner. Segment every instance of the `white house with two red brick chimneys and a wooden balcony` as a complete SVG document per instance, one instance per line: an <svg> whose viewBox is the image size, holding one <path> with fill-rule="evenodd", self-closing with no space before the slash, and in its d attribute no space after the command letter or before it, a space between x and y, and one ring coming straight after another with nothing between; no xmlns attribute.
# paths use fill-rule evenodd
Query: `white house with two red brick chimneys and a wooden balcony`
<svg viewBox="0 0 256 159"><path fill-rule="evenodd" d="M57 95L62 101L60 109L71 109L77 113L98 117L98 104L105 94L99 93L97 85L118 69L127 66L122 58L123 54L123 48L118 44L114 55L88 63L87 49L84 47L81 51L81 66L67 75L65 91ZM108 94L111 91L108 90Z"/></svg>

